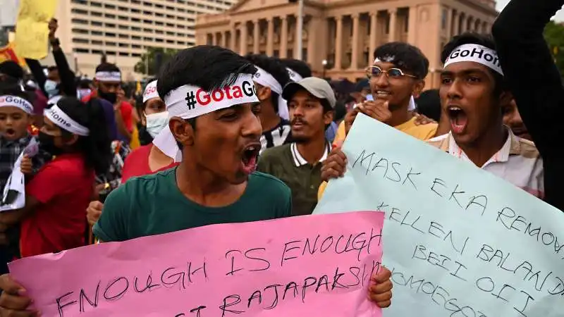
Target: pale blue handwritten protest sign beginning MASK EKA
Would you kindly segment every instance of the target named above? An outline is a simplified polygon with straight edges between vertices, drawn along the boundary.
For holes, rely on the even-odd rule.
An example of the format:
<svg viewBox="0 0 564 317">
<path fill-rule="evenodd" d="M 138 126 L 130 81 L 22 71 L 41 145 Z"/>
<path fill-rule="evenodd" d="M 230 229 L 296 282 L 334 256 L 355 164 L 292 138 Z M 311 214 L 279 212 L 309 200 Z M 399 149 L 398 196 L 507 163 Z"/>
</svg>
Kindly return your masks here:
<svg viewBox="0 0 564 317">
<path fill-rule="evenodd" d="M 343 151 L 345 177 L 314 213 L 386 212 L 385 317 L 562 316 L 561 211 L 364 115 Z"/>
</svg>

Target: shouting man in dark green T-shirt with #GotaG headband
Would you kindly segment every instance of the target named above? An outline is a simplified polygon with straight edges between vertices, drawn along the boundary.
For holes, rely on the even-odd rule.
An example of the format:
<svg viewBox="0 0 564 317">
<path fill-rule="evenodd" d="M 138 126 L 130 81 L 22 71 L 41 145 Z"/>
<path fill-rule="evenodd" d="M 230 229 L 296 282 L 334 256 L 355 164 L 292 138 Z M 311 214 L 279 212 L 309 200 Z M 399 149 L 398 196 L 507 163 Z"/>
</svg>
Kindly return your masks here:
<svg viewBox="0 0 564 317">
<path fill-rule="evenodd" d="M 255 71 L 218 46 L 185 49 L 164 66 L 157 88 L 170 122 L 154 144 L 180 166 L 132 178 L 111 192 L 94 235 L 123 241 L 290 216 L 290 189 L 255 172 L 262 132 Z"/>
</svg>

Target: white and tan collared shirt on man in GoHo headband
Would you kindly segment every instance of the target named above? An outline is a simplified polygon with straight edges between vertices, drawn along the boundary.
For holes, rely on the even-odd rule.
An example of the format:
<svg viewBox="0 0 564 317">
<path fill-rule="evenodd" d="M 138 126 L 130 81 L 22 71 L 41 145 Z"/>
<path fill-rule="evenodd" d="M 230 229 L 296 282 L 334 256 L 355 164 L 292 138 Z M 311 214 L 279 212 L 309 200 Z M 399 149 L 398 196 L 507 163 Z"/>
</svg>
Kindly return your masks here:
<svg viewBox="0 0 564 317">
<path fill-rule="evenodd" d="M 521 139 L 507 129 L 509 137 L 503 147 L 489 159 L 483 170 L 494 173 L 500 178 L 524 189 L 540 199 L 544 198 L 544 168 L 542 159 L 533 142 Z M 468 156 L 458 147 L 450 132 L 427 141 L 448 154 L 463 161 L 470 161 Z"/>
</svg>

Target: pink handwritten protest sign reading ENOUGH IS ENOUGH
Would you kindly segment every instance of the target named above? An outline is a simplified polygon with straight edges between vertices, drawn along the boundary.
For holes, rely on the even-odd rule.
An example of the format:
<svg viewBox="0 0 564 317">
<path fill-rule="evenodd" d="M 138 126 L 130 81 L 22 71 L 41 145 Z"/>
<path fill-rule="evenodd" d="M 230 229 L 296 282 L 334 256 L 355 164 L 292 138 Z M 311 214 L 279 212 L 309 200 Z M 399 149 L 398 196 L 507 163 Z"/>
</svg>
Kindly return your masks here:
<svg viewBox="0 0 564 317">
<path fill-rule="evenodd" d="M 55 316 L 381 316 L 375 211 L 209 225 L 9 264 Z"/>
</svg>

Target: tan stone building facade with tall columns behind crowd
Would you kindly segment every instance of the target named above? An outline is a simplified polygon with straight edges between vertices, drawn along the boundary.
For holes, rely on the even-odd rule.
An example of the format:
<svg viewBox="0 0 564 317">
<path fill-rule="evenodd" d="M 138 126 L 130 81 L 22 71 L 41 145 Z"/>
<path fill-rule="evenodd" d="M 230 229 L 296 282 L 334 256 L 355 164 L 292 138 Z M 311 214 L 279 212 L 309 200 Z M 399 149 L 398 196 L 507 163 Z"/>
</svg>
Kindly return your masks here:
<svg viewBox="0 0 564 317">
<path fill-rule="evenodd" d="M 462 32 L 489 32 L 497 14 L 494 0 L 305 0 L 302 59 L 318 76 L 355 81 L 377 46 L 408 42 L 429 58 L 427 88 L 438 87 L 442 46 Z M 240 0 L 225 13 L 199 15 L 196 44 L 300 58 L 297 15 L 288 0 Z"/>
</svg>

